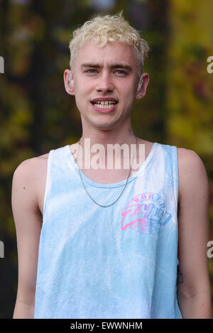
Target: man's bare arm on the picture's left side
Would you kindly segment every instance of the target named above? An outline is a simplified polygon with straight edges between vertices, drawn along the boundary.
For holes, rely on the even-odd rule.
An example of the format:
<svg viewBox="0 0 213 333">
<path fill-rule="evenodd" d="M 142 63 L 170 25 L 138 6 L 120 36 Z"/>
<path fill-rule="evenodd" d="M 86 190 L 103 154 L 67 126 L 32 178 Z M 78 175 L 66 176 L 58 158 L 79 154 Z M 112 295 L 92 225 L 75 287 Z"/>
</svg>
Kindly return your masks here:
<svg viewBox="0 0 213 333">
<path fill-rule="evenodd" d="M 13 318 L 33 319 L 38 246 L 43 217 L 36 193 L 38 159 L 24 160 L 13 173 L 11 204 L 18 248 L 18 292 Z"/>
</svg>

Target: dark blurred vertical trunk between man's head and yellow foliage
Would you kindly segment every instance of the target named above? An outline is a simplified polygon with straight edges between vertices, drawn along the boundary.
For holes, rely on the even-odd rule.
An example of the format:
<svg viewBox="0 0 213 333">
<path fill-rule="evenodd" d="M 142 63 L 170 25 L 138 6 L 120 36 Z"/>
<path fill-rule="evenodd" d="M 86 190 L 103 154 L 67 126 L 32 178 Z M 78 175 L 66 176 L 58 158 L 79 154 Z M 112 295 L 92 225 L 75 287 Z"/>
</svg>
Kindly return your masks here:
<svg viewBox="0 0 213 333">
<path fill-rule="evenodd" d="M 132 125 L 138 136 L 149 141 L 165 143 L 168 47 L 170 27 L 168 0 L 131 1 L 131 20 L 148 42 L 150 52 L 145 59 L 143 72 L 148 72 L 150 82 L 146 96 L 137 101 L 132 112 Z"/>
</svg>

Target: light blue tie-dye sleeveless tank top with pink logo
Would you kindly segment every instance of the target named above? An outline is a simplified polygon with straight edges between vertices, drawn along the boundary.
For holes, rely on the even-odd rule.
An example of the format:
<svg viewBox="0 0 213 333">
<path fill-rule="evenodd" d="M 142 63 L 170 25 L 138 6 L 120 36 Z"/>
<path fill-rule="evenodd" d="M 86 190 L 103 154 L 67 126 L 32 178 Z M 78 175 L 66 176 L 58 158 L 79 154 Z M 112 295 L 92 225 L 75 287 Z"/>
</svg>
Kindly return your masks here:
<svg viewBox="0 0 213 333">
<path fill-rule="evenodd" d="M 103 205 L 126 183 L 82 178 Z M 182 318 L 177 213 L 176 146 L 154 143 L 107 208 L 85 192 L 70 146 L 50 151 L 35 318 Z"/>
</svg>

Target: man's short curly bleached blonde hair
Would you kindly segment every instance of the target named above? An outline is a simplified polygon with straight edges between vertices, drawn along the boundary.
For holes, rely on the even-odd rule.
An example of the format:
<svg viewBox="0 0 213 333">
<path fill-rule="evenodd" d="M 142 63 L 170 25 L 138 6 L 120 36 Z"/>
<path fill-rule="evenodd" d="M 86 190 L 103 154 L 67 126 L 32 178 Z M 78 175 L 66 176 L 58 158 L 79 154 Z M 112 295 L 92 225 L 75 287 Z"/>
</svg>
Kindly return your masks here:
<svg viewBox="0 0 213 333">
<path fill-rule="evenodd" d="M 129 22 L 124 19 L 122 11 L 114 16 L 95 16 L 80 28 L 75 29 L 70 40 L 70 70 L 72 75 L 78 50 L 89 40 L 92 40 L 99 47 L 106 45 L 107 42 L 122 42 L 132 45 L 136 50 L 138 77 L 141 77 L 144 58 L 147 57 L 149 50 L 148 43 L 141 38 L 139 31 L 130 26 Z"/>
</svg>

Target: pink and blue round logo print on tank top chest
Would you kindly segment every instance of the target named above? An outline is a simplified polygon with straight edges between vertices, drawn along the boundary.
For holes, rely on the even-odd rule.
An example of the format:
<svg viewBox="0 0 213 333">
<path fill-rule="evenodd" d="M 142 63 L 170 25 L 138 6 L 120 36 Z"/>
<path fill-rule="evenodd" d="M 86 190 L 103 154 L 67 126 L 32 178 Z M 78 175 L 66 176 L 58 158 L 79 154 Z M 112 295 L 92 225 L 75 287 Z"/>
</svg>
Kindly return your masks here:
<svg viewBox="0 0 213 333">
<path fill-rule="evenodd" d="M 122 230 L 130 227 L 142 234 L 158 234 L 172 218 L 166 211 L 163 198 L 151 192 L 133 197 L 129 204 L 121 209 L 121 215 Z"/>
</svg>

